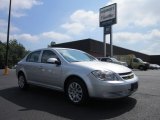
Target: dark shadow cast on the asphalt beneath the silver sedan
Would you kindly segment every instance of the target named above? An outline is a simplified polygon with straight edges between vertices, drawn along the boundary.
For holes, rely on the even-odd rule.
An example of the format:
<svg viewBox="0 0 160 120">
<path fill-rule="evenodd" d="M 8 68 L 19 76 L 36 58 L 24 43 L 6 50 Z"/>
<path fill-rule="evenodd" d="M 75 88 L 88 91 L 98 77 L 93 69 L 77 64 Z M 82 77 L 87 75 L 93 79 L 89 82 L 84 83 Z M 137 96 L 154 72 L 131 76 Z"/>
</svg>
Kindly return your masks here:
<svg viewBox="0 0 160 120">
<path fill-rule="evenodd" d="M 38 110 L 68 119 L 109 119 L 132 110 L 137 101 L 134 98 L 122 100 L 95 100 L 86 105 L 76 106 L 68 103 L 61 92 L 31 86 L 22 91 L 18 87 L 0 90 L 0 96 L 22 106 L 19 111 Z"/>
</svg>

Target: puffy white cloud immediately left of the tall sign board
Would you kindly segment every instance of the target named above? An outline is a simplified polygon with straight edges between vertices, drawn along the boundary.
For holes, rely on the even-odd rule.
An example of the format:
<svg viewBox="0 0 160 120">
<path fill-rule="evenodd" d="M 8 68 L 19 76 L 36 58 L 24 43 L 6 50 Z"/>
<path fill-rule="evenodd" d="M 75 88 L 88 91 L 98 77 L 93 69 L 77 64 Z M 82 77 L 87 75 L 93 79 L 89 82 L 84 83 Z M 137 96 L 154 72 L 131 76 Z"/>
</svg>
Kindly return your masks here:
<svg viewBox="0 0 160 120">
<path fill-rule="evenodd" d="M 69 22 L 61 25 L 69 34 L 81 34 L 93 31 L 98 27 L 98 13 L 86 10 L 77 10 L 71 16 Z"/>
</svg>

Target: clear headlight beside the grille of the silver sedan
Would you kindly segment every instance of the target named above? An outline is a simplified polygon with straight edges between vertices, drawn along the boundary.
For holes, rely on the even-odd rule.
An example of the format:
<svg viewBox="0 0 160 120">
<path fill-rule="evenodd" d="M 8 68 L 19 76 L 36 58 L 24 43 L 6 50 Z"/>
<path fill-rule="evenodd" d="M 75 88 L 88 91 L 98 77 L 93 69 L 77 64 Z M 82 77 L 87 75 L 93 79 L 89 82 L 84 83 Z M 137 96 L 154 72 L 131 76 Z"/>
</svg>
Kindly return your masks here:
<svg viewBox="0 0 160 120">
<path fill-rule="evenodd" d="M 116 73 L 112 72 L 112 71 L 100 71 L 100 70 L 96 70 L 93 71 L 92 74 L 100 79 L 100 80 L 104 80 L 104 81 L 116 81 L 116 80 L 122 80 Z"/>
</svg>

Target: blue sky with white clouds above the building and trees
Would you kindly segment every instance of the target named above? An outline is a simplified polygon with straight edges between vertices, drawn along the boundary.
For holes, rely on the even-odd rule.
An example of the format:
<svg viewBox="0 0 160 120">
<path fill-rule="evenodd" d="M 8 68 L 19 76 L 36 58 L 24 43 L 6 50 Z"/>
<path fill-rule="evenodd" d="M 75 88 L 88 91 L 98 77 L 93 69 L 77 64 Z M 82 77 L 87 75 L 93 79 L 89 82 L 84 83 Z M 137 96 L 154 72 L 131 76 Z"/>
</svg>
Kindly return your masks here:
<svg viewBox="0 0 160 120">
<path fill-rule="evenodd" d="M 12 0 L 10 39 L 27 50 L 95 39 L 103 42 L 99 9 L 117 3 L 113 45 L 160 55 L 159 0 Z M 0 40 L 7 40 L 9 0 L 0 0 Z M 109 43 L 109 35 L 106 42 Z"/>
</svg>

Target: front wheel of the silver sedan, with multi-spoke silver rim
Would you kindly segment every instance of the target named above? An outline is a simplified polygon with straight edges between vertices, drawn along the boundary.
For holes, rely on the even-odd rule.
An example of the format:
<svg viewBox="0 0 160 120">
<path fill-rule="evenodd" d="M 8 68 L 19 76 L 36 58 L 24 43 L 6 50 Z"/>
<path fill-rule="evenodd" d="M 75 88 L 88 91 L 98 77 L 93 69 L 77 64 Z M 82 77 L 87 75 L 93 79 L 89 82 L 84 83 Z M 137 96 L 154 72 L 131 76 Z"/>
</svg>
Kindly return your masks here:
<svg viewBox="0 0 160 120">
<path fill-rule="evenodd" d="M 84 104 L 88 100 L 88 90 L 85 83 L 79 78 L 72 78 L 66 84 L 65 94 L 69 102 Z"/>
</svg>

